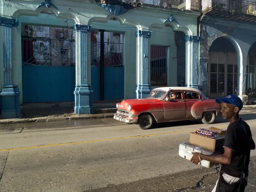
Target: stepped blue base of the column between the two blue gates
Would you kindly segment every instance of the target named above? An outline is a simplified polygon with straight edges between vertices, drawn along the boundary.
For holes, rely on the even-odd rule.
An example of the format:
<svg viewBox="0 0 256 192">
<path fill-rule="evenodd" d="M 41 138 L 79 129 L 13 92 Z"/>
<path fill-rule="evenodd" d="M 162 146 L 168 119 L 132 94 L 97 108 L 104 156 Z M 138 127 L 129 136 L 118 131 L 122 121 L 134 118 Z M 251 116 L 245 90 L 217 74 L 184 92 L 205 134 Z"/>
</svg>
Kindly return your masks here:
<svg viewBox="0 0 256 192">
<path fill-rule="evenodd" d="M 74 111 L 76 114 L 91 114 L 93 112 L 91 95 L 93 91 L 90 85 L 76 85 L 75 106 Z"/>
</svg>

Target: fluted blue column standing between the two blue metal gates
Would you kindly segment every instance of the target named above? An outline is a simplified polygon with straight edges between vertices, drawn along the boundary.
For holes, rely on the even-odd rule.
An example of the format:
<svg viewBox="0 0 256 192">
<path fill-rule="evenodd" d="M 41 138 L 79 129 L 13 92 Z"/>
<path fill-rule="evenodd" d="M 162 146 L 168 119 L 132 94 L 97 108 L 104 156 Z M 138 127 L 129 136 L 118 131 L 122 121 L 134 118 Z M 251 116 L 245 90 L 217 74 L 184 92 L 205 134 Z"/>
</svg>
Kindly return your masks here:
<svg viewBox="0 0 256 192">
<path fill-rule="evenodd" d="M 76 31 L 76 88 L 74 111 L 77 114 L 93 113 L 90 85 L 90 31 L 92 26 L 74 26 Z"/>
</svg>

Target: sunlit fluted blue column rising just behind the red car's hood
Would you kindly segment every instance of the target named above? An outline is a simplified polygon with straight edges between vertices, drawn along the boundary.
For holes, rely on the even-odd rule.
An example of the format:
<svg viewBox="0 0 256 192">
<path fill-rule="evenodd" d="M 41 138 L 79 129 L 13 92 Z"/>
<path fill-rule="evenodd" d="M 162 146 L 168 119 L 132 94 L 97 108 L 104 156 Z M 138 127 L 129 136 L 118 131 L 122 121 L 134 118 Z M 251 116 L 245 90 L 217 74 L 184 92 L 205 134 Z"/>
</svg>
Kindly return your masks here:
<svg viewBox="0 0 256 192">
<path fill-rule="evenodd" d="M 151 92 L 150 84 L 150 41 L 151 31 L 137 31 L 136 35 L 136 87 L 135 98 L 146 98 Z"/>
</svg>

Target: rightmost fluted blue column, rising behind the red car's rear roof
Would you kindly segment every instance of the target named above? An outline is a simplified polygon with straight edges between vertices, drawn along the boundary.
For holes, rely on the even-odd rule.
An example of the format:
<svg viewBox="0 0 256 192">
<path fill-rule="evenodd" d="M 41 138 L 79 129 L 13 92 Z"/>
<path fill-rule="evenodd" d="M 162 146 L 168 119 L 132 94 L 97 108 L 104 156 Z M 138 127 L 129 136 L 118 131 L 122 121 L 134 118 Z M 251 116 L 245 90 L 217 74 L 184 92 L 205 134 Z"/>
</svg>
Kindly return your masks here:
<svg viewBox="0 0 256 192">
<path fill-rule="evenodd" d="M 185 37 L 186 45 L 187 45 L 187 51 L 186 54 L 189 56 L 186 58 L 189 58 L 189 61 L 186 63 L 189 66 L 186 66 L 186 73 L 187 73 L 187 79 L 186 79 L 186 87 L 192 87 L 198 89 L 198 68 L 199 68 L 199 36 L 192 36 L 188 35 Z"/>
</svg>

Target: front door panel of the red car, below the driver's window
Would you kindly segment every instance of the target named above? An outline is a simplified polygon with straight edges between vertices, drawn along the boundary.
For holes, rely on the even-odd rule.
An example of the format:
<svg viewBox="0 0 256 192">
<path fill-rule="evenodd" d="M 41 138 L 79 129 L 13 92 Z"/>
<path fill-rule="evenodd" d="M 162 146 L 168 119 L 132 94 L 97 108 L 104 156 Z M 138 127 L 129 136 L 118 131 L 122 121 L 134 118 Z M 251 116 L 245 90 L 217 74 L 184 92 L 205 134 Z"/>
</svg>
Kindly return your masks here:
<svg viewBox="0 0 256 192">
<path fill-rule="evenodd" d="M 186 105 L 184 99 L 164 100 L 163 110 L 166 122 L 186 119 Z"/>
</svg>

